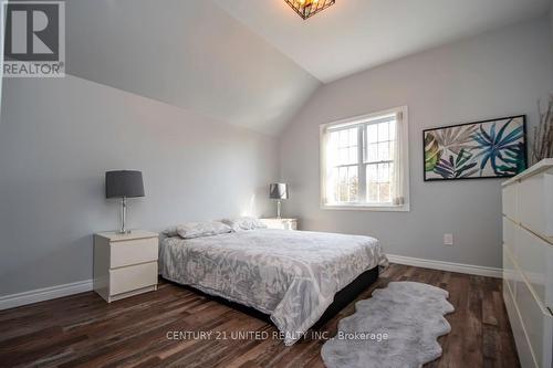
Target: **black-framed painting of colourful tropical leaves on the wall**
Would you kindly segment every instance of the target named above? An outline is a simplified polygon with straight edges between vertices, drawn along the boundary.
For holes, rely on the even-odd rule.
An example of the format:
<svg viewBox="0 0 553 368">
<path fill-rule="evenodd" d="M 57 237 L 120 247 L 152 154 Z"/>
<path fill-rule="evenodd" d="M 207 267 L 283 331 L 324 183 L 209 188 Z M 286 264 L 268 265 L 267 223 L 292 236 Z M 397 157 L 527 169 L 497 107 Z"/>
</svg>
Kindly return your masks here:
<svg viewBox="0 0 553 368">
<path fill-rule="evenodd" d="M 425 130 L 425 180 L 512 177 L 526 168 L 525 117 Z"/>
</svg>

